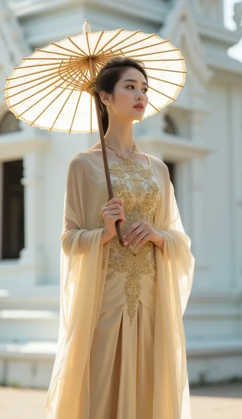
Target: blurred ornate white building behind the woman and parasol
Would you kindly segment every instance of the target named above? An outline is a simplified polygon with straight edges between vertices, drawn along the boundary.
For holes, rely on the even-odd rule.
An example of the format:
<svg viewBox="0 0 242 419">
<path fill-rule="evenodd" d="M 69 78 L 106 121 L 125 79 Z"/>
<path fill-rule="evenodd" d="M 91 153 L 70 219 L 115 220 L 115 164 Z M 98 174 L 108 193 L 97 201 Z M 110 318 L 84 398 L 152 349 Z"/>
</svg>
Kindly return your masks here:
<svg viewBox="0 0 242 419">
<path fill-rule="evenodd" d="M 190 385 L 242 380 L 241 18 L 234 0 L 0 0 L 1 88 L 22 57 L 82 33 L 85 19 L 92 32 L 155 32 L 187 58 L 177 101 L 135 124 L 134 139 L 167 164 L 196 257 L 184 315 Z M 46 388 L 58 338 L 66 170 L 99 135 L 30 127 L 1 95 L 0 385 Z"/>
</svg>

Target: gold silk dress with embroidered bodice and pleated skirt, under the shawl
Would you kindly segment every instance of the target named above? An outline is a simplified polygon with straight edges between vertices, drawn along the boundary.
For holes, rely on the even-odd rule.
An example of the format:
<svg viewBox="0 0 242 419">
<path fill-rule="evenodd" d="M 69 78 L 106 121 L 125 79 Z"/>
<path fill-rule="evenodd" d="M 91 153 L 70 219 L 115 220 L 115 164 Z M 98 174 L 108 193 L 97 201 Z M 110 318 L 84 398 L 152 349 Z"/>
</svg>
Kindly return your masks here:
<svg viewBox="0 0 242 419">
<path fill-rule="evenodd" d="M 123 199 L 124 232 L 139 220 L 154 226 L 160 199 L 149 165 L 109 162 L 114 196 Z M 100 228 L 104 220 L 99 214 Z M 121 246 L 115 236 L 90 353 L 89 419 L 152 419 L 154 392 L 155 245 Z"/>
</svg>

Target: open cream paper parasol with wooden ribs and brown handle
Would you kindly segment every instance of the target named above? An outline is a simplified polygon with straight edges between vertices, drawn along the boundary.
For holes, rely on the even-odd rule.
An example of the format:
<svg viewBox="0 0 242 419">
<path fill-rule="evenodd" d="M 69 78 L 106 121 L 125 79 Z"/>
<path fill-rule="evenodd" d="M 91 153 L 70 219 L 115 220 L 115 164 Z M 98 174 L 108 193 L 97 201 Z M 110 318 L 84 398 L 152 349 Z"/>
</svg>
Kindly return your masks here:
<svg viewBox="0 0 242 419">
<path fill-rule="evenodd" d="M 169 40 L 139 30 L 91 32 L 86 20 L 83 34 L 51 42 L 23 58 L 4 89 L 8 109 L 30 125 L 68 133 L 99 131 L 109 199 L 113 191 L 94 86 L 100 69 L 115 56 L 138 59 L 146 69 L 149 103 L 143 119 L 175 101 L 184 86 L 185 58 Z M 119 221 L 116 229 L 123 244 Z"/>
</svg>

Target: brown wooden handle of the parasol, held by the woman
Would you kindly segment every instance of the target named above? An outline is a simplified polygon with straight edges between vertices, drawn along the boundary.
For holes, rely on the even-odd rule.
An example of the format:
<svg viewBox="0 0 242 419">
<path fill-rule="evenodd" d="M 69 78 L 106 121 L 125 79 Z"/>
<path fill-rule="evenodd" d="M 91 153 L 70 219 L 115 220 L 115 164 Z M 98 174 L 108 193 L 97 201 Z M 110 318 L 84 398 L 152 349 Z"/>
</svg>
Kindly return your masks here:
<svg viewBox="0 0 242 419">
<path fill-rule="evenodd" d="M 89 58 L 89 63 L 90 63 L 90 75 L 92 78 L 93 76 L 95 76 L 95 67 L 93 63 L 93 58 Z M 100 139 L 101 139 L 101 145 L 102 145 L 102 151 L 103 151 L 104 169 L 105 169 L 105 176 L 106 176 L 107 187 L 108 187 L 108 198 L 110 200 L 114 198 L 114 195 L 113 195 L 112 183 L 111 183 L 109 167 L 108 167 L 107 150 L 106 150 L 106 146 L 104 142 L 104 132 L 103 132 L 101 111 L 99 107 L 98 94 L 94 94 L 94 102 L 95 102 L 95 108 L 96 108 L 96 117 L 98 118 L 99 133 L 100 133 Z M 120 228 L 120 220 L 117 220 L 115 222 L 115 227 L 117 231 L 118 241 L 121 245 L 124 245 L 124 240 L 123 240 L 121 228 Z"/>
</svg>

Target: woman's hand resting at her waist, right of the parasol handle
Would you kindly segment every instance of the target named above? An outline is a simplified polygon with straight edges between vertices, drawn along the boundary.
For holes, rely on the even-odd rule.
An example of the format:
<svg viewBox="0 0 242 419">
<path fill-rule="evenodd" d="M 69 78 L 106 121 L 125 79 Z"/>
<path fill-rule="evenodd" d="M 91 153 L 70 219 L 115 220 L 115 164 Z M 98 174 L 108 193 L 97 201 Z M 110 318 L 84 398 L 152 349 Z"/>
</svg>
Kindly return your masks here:
<svg viewBox="0 0 242 419">
<path fill-rule="evenodd" d="M 141 247 L 144 243 L 151 241 L 161 250 L 164 245 L 164 236 L 161 231 L 155 230 L 146 221 L 140 220 L 132 224 L 123 234 L 125 246 L 133 249 L 135 246 Z M 133 243 L 130 244 L 133 240 Z"/>
</svg>

